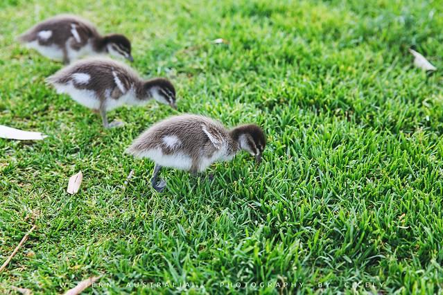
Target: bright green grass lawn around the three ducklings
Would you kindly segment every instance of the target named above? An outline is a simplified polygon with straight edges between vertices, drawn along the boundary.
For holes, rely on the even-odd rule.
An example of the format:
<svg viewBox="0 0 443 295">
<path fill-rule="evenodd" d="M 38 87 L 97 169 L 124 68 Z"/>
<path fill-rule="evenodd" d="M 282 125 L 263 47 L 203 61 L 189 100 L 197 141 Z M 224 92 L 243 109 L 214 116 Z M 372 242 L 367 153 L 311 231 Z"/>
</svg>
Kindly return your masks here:
<svg viewBox="0 0 443 295">
<path fill-rule="evenodd" d="M 408 48 L 442 69 L 443 1 L 125 2 L 0 4 L 0 124 L 49 135 L 0 139 L 0 264 L 37 224 L 0 293 L 94 275 L 87 292 L 442 292 L 443 80 Z M 109 117 L 127 124 L 105 130 L 46 87 L 62 65 L 14 37 L 60 12 L 128 35 L 132 66 L 173 80 L 178 111 L 123 107 Z M 184 112 L 263 126 L 261 166 L 239 154 L 212 183 L 167 170 L 155 193 L 153 163 L 123 151 Z"/>
</svg>

